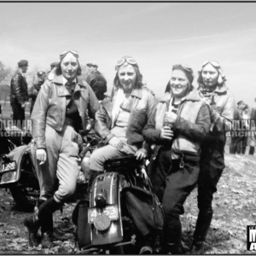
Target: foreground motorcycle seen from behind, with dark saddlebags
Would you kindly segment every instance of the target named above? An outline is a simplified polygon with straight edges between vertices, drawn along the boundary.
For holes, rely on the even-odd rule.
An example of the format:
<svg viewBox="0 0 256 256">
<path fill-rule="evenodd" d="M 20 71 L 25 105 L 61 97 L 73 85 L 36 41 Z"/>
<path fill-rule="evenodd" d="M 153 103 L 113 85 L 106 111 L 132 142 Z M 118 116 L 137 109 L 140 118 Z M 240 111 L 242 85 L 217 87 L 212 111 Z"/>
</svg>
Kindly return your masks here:
<svg viewBox="0 0 256 256">
<path fill-rule="evenodd" d="M 135 201 L 129 208 L 127 191 L 131 192 L 129 189 L 134 188 L 145 197 L 145 201 Z M 142 216 L 143 212 L 136 212 L 135 216 L 131 214 L 133 208 L 141 203 L 139 207 L 145 207 L 143 211 L 148 210 L 148 214 L 153 212 L 148 215 L 151 221 L 154 222 L 155 216 L 165 217 L 151 188 L 144 162 L 138 162 L 134 155 L 106 161 L 105 172 L 92 184 L 90 207 L 85 201 L 80 201 L 73 211 L 73 223 L 77 225 L 76 239 L 82 253 L 160 253 L 160 236 L 149 234 L 145 238 L 138 230 L 138 225 L 144 220 L 138 217 L 136 225 L 137 213 Z M 148 201 L 154 207 L 148 207 L 145 204 Z M 154 214 L 154 211 L 160 211 L 157 212 L 160 215 Z"/>
</svg>

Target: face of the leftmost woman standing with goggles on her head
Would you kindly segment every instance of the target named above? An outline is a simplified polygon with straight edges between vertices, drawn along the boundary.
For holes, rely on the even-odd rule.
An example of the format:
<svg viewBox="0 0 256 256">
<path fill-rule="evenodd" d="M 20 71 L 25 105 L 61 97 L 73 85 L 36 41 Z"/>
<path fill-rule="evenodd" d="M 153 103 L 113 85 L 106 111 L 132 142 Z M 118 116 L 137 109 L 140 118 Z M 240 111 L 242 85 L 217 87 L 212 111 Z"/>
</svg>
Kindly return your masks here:
<svg viewBox="0 0 256 256">
<path fill-rule="evenodd" d="M 68 53 L 61 61 L 61 72 L 65 79 L 73 81 L 79 69 L 78 59 L 71 53 Z"/>
</svg>

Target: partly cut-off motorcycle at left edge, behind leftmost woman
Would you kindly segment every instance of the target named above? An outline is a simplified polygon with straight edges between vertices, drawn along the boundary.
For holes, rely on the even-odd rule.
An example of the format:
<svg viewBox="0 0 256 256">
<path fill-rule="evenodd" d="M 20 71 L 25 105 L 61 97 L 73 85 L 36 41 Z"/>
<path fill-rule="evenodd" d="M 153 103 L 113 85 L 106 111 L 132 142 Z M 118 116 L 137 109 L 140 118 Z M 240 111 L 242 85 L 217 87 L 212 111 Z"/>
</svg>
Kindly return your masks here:
<svg viewBox="0 0 256 256">
<path fill-rule="evenodd" d="M 0 137 L 0 188 L 9 189 L 16 204 L 23 209 L 29 209 L 28 202 L 31 199 L 25 195 L 34 188 L 30 183 L 36 183 L 31 172 L 32 160 L 27 146 L 32 135 L 29 131 L 21 131 L 15 126 L 5 127 L 2 120 L 0 123 L 3 135 Z"/>
</svg>

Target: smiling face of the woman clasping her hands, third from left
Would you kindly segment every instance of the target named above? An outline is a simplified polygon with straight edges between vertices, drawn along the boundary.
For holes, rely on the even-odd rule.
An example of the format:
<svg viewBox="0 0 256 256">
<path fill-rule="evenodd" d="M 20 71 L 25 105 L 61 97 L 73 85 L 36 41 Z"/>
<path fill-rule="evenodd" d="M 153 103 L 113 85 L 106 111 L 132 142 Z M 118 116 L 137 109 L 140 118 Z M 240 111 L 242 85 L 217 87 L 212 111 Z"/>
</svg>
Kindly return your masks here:
<svg viewBox="0 0 256 256">
<path fill-rule="evenodd" d="M 189 90 L 189 79 L 182 70 L 175 69 L 172 71 L 170 84 L 174 97 L 182 98 L 183 96 L 186 96 Z"/>
</svg>

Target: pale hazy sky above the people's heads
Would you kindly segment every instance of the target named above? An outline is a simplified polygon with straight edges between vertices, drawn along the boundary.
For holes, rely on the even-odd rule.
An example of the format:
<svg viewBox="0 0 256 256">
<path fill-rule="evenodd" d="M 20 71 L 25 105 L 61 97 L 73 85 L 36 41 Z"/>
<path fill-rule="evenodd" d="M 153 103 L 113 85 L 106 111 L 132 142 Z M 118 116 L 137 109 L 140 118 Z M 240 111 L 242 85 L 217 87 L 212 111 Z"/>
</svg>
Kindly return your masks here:
<svg viewBox="0 0 256 256">
<path fill-rule="evenodd" d="M 116 61 L 131 55 L 156 96 L 173 65 L 192 67 L 197 87 L 201 64 L 218 61 L 236 102 L 253 106 L 255 14 L 256 3 L 0 3 L 0 61 L 49 70 L 76 49 L 81 64 L 98 64 L 110 90 Z"/>
</svg>

